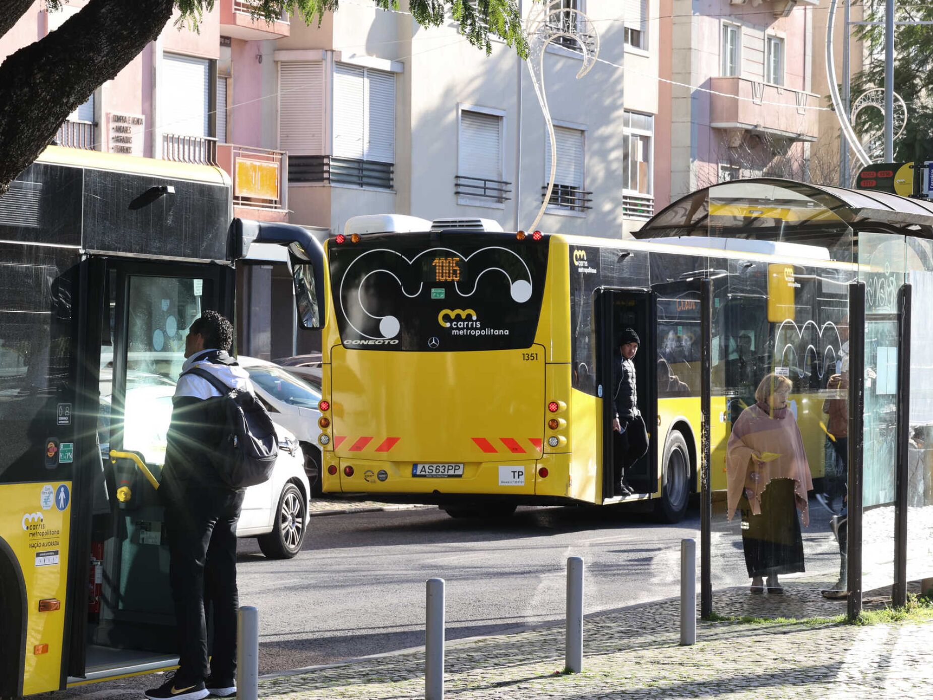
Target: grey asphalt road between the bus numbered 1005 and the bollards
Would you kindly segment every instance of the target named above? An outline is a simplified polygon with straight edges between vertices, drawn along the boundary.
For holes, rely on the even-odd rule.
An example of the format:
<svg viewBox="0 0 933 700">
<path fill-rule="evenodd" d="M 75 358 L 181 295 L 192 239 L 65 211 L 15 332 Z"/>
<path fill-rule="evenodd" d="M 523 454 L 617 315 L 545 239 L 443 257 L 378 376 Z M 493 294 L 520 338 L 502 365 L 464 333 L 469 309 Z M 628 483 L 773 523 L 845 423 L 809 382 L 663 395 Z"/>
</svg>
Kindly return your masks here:
<svg viewBox="0 0 933 700">
<path fill-rule="evenodd" d="M 838 570 L 828 513 L 812 501 L 808 572 Z M 719 504 L 717 504 L 718 506 Z M 741 531 L 717 507 L 713 585 L 747 584 Z M 447 581 L 447 638 L 501 634 L 564 616 L 566 557 L 586 567 L 585 611 L 679 595 L 680 540 L 699 541 L 699 510 L 659 525 L 625 507 L 522 508 L 504 520 L 454 520 L 435 509 L 311 519 L 304 550 L 270 561 L 239 546 L 241 605 L 256 606 L 260 673 L 424 644 L 425 580 Z M 160 677 L 55 697 L 139 697 Z"/>
</svg>

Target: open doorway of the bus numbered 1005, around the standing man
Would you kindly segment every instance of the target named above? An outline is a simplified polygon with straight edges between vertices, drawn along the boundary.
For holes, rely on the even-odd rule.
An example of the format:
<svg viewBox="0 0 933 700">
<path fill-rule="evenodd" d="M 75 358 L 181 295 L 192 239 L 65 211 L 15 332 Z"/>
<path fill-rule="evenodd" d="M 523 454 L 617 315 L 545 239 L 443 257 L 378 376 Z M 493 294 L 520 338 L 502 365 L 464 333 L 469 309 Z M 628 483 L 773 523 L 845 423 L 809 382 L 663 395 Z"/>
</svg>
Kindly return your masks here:
<svg viewBox="0 0 933 700">
<path fill-rule="evenodd" d="M 657 421 L 654 417 L 658 413 L 658 392 L 656 371 L 649 361 L 656 354 L 655 294 L 650 289 L 603 287 L 597 292 L 595 304 L 596 317 L 599 319 L 596 327 L 597 395 L 603 399 L 603 502 L 622 500 L 621 497 L 613 495 L 621 455 L 617 454 L 618 438 L 612 429 L 612 420 L 615 417 L 612 399 L 616 391 L 613 367 L 620 352 L 616 341 L 622 329 L 626 328 L 634 329 L 641 339 L 634 357 L 634 365 L 638 410 L 644 417 L 648 430 L 648 452 L 626 469 L 625 480 L 635 492 L 634 496 L 626 499 L 648 499 L 656 488 L 653 465 L 658 461 L 655 436 Z"/>
</svg>

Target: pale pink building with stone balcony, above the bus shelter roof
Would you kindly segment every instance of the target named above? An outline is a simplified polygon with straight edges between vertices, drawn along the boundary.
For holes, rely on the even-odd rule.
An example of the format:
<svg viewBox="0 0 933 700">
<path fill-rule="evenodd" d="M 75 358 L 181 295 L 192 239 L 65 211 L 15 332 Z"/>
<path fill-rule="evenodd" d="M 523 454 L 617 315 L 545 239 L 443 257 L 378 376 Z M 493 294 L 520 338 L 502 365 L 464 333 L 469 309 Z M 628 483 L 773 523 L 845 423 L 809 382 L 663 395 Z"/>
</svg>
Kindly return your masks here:
<svg viewBox="0 0 933 700">
<path fill-rule="evenodd" d="M 656 181 L 662 205 L 740 177 L 805 179 L 825 105 L 814 91 L 819 0 L 661 0 Z M 824 21 L 825 26 L 825 21 Z"/>
</svg>

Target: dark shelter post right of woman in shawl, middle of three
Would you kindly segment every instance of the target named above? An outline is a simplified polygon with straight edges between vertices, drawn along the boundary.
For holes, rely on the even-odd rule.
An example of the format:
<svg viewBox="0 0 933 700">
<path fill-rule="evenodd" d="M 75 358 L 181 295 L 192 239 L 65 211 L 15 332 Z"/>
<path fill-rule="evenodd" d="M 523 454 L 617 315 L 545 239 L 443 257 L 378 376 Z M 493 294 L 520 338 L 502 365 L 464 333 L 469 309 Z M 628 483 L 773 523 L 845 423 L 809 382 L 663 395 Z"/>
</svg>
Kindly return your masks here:
<svg viewBox="0 0 933 700">
<path fill-rule="evenodd" d="M 865 410 L 865 283 L 849 285 L 848 617 L 862 611 L 862 442 Z"/>
</svg>

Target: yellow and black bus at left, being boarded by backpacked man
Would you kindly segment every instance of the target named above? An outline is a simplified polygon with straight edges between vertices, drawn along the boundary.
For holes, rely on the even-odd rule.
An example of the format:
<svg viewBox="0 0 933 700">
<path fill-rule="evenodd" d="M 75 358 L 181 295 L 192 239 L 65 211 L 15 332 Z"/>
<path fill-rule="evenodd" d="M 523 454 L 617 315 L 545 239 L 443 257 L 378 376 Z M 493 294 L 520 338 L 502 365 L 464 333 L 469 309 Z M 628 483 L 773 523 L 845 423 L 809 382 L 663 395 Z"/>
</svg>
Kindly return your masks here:
<svg viewBox="0 0 933 700">
<path fill-rule="evenodd" d="M 230 213 L 219 168 L 61 147 L 0 198 L 0 697 L 177 663 L 148 479 L 185 330 L 234 317 Z"/>
</svg>

